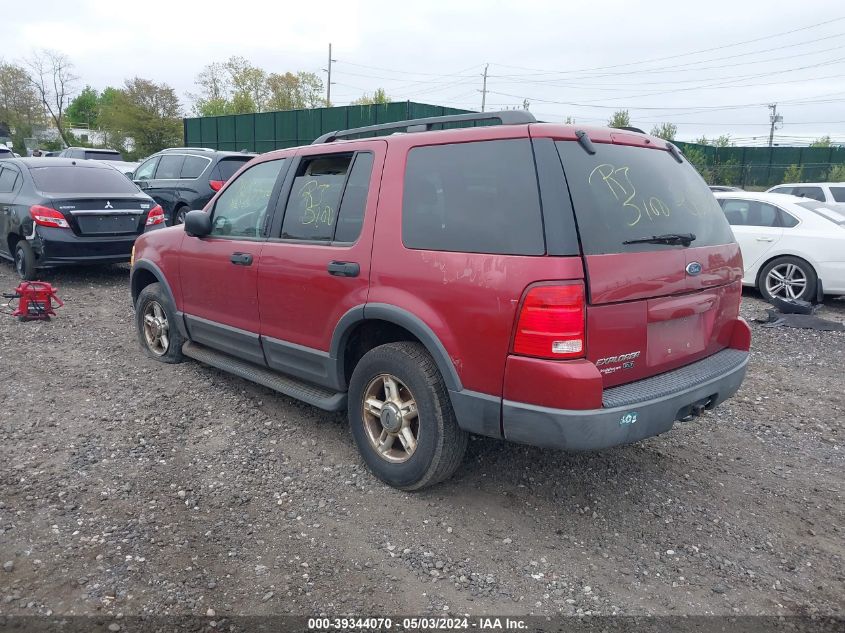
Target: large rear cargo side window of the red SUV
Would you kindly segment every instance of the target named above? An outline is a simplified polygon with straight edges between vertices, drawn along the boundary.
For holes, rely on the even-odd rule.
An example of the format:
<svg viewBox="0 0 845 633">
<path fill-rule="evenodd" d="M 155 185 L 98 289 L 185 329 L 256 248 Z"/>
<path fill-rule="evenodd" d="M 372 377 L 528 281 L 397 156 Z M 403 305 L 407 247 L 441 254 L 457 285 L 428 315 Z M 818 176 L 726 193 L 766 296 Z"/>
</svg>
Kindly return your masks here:
<svg viewBox="0 0 845 633">
<path fill-rule="evenodd" d="M 540 196 L 528 139 L 416 147 L 402 201 L 408 248 L 542 255 Z"/>
</svg>

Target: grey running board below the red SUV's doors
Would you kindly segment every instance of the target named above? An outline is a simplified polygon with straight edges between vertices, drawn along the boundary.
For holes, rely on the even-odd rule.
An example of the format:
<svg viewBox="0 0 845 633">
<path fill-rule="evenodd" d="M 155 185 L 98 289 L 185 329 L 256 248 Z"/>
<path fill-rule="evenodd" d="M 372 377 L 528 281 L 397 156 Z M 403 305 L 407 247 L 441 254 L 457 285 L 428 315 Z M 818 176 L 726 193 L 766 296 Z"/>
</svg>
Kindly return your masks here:
<svg viewBox="0 0 845 633">
<path fill-rule="evenodd" d="M 206 365 L 234 374 L 259 385 L 263 385 L 291 398 L 302 400 L 326 411 L 340 411 L 346 408 L 346 394 L 340 391 L 318 387 L 290 376 L 276 373 L 266 367 L 259 367 L 246 361 L 218 352 L 204 345 L 188 341 L 182 345 L 182 353 Z"/>
</svg>

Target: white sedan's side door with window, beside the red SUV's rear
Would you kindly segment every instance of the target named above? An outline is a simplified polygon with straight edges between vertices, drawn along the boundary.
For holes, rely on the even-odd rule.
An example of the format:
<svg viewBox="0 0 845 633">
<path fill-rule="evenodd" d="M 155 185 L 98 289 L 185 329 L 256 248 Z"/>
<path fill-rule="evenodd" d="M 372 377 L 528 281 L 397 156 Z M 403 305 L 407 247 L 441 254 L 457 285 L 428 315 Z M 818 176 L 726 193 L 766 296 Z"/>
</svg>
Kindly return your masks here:
<svg viewBox="0 0 845 633">
<path fill-rule="evenodd" d="M 747 273 L 783 237 L 778 209 L 744 198 L 721 198 L 719 204 L 742 250 L 743 272 Z"/>
</svg>

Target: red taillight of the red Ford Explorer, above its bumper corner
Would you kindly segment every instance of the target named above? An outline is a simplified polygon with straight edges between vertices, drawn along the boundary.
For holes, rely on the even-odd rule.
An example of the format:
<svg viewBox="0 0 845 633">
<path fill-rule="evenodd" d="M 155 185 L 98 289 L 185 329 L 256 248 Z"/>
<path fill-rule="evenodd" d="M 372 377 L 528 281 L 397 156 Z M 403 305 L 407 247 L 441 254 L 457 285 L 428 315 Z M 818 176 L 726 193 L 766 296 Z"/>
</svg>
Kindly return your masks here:
<svg viewBox="0 0 845 633">
<path fill-rule="evenodd" d="M 522 302 L 513 352 L 536 358 L 580 358 L 584 329 L 584 284 L 534 286 Z"/>
</svg>

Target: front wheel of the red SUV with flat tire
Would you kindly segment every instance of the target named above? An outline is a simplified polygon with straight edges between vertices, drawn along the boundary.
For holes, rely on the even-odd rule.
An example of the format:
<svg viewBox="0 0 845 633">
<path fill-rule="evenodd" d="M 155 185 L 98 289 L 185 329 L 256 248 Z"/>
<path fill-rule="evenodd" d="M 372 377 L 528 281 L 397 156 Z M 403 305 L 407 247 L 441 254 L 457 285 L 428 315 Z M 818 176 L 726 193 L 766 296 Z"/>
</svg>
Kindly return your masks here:
<svg viewBox="0 0 845 633">
<path fill-rule="evenodd" d="M 184 337 L 176 325 L 176 310 L 161 284 L 146 286 L 135 304 L 138 340 L 147 356 L 162 363 L 182 361 Z"/>
</svg>

